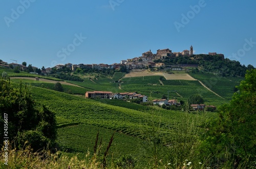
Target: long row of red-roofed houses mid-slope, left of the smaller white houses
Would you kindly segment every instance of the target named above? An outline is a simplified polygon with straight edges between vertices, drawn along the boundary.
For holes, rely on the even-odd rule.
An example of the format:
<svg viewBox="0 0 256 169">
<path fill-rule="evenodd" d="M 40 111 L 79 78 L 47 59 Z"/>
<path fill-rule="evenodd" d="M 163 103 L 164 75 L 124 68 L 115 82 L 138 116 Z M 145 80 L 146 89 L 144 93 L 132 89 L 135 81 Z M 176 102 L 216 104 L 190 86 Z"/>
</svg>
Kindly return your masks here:
<svg viewBox="0 0 256 169">
<path fill-rule="evenodd" d="M 99 98 L 99 99 L 140 99 L 141 102 L 147 102 L 147 96 L 138 94 L 136 92 L 122 92 L 122 93 L 112 93 L 111 91 L 87 91 L 86 98 Z"/>
</svg>

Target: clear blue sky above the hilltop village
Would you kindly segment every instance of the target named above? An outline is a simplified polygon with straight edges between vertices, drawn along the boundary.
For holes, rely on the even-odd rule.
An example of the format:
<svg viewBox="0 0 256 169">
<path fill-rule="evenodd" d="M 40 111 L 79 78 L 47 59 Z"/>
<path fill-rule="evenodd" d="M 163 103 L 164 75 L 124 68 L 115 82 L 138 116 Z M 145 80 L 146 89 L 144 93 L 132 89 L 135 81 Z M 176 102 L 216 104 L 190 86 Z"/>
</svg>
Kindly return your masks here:
<svg viewBox="0 0 256 169">
<path fill-rule="evenodd" d="M 255 9 L 255 0 L 3 0 L 0 59 L 112 64 L 193 45 L 256 67 Z"/>
</svg>

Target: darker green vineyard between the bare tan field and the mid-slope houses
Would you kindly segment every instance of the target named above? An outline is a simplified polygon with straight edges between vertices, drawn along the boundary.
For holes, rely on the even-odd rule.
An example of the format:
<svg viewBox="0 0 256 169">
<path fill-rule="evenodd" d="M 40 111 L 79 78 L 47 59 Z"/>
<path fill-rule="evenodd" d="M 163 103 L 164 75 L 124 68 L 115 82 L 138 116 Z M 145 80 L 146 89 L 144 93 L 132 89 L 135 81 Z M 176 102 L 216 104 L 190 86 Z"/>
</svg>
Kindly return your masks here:
<svg viewBox="0 0 256 169">
<path fill-rule="evenodd" d="M 159 82 L 160 78 L 161 76 L 123 78 L 121 87 L 126 91 L 136 91 L 145 94 L 152 99 L 161 99 L 163 95 L 167 96 L 169 91 L 169 99 L 186 101 L 190 95 L 199 93 L 207 104 L 218 106 L 227 102 L 207 90 L 198 81 L 165 80 L 161 78 L 164 84 L 161 85 Z"/>
</svg>

